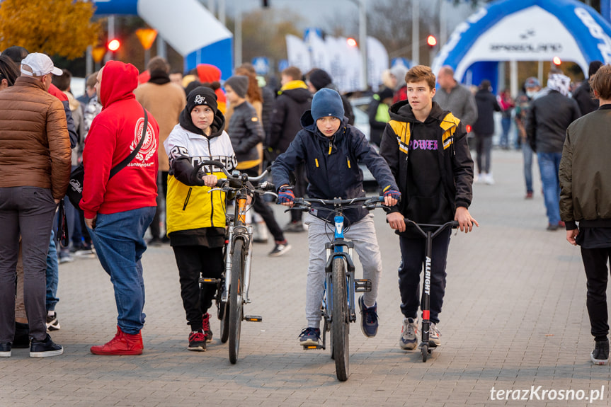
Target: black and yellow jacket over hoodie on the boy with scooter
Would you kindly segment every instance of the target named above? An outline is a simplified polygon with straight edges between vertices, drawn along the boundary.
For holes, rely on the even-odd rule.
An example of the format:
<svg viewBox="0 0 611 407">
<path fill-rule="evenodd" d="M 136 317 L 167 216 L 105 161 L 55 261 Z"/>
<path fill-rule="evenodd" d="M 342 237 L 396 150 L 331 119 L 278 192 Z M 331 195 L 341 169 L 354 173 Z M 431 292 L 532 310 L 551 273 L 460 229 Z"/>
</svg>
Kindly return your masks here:
<svg viewBox="0 0 611 407">
<path fill-rule="evenodd" d="M 472 200 L 473 160 L 464 125 L 436 102 L 424 122 L 408 101 L 395 103 L 389 113 L 379 154 L 401 191 L 392 212 L 418 223 L 454 219 L 456 207 L 468 208 Z"/>
</svg>

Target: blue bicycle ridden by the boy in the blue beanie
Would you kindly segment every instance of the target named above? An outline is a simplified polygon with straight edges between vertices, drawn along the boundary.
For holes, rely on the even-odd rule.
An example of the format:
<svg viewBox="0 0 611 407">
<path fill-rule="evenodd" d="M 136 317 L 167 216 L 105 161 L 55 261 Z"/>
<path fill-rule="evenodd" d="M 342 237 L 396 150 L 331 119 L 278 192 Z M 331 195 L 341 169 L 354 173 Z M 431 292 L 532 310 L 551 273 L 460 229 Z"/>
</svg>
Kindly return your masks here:
<svg viewBox="0 0 611 407">
<path fill-rule="evenodd" d="M 356 321 L 355 292 L 370 292 L 371 280 L 355 279 L 353 248 L 354 243 L 344 239 L 344 216 L 342 210 L 355 207 L 364 207 L 373 210 L 382 207 L 384 197 L 358 197 L 343 200 L 335 198 L 332 200 L 321 200 L 314 198 L 296 198 L 295 205 L 290 210 L 310 210 L 312 203 L 322 205 L 333 205 L 333 210 L 326 207 L 316 207 L 320 212 L 329 211 L 329 217 L 333 214 L 333 224 L 329 225 L 329 231 L 333 227 L 333 239 L 325 243 L 326 265 L 325 265 L 325 290 L 321 306 L 324 318 L 322 330 L 322 345 L 304 345 L 304 349 L 326 349 L 326 333 L 331 332 L 331 359 L 335 360 L 336 376 L 344 382 L 348 379 L 350 352 L 348 346 L 348 333 L 350 333 L 350 322 Z M 360 205 L 359 205 L 360 204 Z"/>
</svg>

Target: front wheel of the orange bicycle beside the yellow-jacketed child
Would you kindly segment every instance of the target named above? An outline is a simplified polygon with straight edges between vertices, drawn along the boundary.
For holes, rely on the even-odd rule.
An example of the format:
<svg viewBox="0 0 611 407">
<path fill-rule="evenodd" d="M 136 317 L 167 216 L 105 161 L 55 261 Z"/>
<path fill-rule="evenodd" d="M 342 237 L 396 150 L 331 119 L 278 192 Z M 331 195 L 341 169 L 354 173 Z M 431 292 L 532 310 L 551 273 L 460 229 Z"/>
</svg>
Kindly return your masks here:
<svg viewBox="0 0 611 407">
<path fill-rule="evenodd" d="M 240 350 L 240 331 L 244 309 L 242 294 L 244 290 L 244 241 L 237 239 L 232 255 L 232 285 L 229 286 L 229 362 L 238 361 Z"/>
</svg>

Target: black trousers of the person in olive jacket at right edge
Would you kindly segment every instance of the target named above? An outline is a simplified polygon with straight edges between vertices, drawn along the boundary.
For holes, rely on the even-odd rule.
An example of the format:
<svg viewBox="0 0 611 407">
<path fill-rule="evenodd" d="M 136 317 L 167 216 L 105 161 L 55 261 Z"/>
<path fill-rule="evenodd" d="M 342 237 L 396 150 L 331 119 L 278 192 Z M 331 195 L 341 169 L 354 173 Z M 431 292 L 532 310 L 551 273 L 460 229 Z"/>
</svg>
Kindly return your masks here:
<svg viewBox="0 0 611 407">
<path fill-rule="evenodd" d="M 581 248 L 581 259 L 586 268 L 588 296 L 586 306 L 590 316 L 590 329 L 595 340 L 605 340 L 609 334 L 607 316 L 607 263 L 611 248 Z"/>
</svg>

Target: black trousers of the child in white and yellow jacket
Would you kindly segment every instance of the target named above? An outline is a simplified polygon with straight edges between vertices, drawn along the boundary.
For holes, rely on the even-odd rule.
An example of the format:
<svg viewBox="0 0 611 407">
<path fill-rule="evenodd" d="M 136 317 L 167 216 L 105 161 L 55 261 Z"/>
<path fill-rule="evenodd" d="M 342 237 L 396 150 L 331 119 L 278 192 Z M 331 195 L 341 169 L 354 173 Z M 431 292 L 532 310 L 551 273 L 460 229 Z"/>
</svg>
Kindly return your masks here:
<svg viewBox="0 0 611 407">
<path fill-rule="evenodd" d="M 181 297 L 188 324 L 193 331 L 202 328 L 202 315 L 215 298 L 215 285 L 201 285 L 200 277 L 220 278 L 223 273 L 223 248 L 205 246 L 172 246 L 178 275 L 181 280 Z"/>
</svg>

